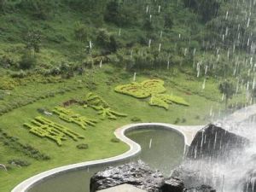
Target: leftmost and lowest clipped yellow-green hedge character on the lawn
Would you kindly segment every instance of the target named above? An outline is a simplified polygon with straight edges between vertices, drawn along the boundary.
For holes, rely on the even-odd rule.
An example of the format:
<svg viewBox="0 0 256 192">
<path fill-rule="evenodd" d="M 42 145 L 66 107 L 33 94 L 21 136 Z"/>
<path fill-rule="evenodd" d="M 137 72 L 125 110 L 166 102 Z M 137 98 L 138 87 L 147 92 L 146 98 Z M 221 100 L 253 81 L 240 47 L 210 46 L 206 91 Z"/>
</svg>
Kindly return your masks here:
<svg viewBox="0 0 256 192">
<path fill-rule="evenodd" d="M 59 146 L 62 145 L 63 140 L 67 140 L 67 137 L 71 137 L 74 141 L 84 139 L 84 136 L 76 133 L 63 125 L 56 124 L 55 122 L 38 116 L 32 120 L 32 124 L 24 124 L 26 128 L 38 137 L 47 137 L 57 143 Z"/>
</svg>

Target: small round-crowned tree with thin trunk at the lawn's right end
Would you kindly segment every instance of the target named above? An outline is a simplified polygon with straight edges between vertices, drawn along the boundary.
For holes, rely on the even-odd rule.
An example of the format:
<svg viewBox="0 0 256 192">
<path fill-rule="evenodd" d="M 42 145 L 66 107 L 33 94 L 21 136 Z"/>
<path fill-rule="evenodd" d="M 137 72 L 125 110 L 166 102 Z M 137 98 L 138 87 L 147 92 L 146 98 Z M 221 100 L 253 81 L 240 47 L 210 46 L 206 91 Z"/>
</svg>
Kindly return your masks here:
<svg viewBox="0 0 256 192">
<path fill-rule="evenodd" d="M 219 84 L 218 90 L 225 96 L 225 108 L 227 109 L 229 99 L 231 99 L 236 92 L 235 84 L 226 79 Z"/>
</svg>

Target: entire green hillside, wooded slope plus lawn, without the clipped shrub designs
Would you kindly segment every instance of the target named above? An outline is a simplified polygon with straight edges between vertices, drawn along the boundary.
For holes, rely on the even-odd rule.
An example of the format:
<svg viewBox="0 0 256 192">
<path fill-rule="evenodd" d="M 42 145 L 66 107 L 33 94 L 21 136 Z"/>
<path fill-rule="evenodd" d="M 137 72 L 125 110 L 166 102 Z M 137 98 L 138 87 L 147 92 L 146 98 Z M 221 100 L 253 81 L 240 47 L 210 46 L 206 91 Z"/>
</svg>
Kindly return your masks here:
<svg viewBox="0 0 256 192">
<path fill-rule="evenodd" d="M 125 152 L 124 143 L 111 141 L 119 126 L 203 125 L 226 113 L 225 96 L 230 110 L 250 104 L 256 96 L 254 10 L 234 1 L 0 0 L 0 163 L 8 168 L 0 171 L 0 191 L 50 168 Z M 164 80 L 165 94 L 189 107 L 172 103 L 166 110 L 114 91 L 133 82 L 134 73 L 136 82 Z M 219 91 L 221 82 L 231 82 L 231 96 Z M 84 131 L 42 114 L 89 92 L 128 116 L 101 119 L 93 108 L 67 107 L 99 121 Z M 84 140 L 69 138 L 60 147 L 33 135 L 23 124 L 39 115 Z M 81 143 L 89 148 L 78 149 Z"/>
</svg>

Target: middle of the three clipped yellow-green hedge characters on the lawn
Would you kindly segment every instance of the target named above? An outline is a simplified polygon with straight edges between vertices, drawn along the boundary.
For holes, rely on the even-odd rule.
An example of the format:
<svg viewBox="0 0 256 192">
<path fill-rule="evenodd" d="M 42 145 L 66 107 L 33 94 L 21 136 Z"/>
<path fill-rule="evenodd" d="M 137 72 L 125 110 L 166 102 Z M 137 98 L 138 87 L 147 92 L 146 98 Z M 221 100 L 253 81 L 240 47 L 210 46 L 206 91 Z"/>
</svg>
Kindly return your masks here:
<svg viewBox="0 0 256 192">
<path fill-rule="evenodd" d="M 81 126 L 84 130 L 88 125 L 95 126 L 97 123 L 96 119 L 89 119 L 67 108 L 55 107 L 53 113 L 57 114 L 62 120 Z"/>
</svg>

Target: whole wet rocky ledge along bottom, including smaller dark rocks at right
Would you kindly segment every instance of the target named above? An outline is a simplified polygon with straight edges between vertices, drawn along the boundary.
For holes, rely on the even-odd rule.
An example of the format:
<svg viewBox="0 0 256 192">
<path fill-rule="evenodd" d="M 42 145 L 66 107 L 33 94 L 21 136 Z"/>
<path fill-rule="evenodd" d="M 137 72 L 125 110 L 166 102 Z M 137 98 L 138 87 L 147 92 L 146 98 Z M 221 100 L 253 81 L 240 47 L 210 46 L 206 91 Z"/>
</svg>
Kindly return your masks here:
<svg viewBox="0 0 256 192">
<path fill-rule="evenodd" d="M 116 167 L 110 166 L 105 171 L 97 172 L 90 178 L 90 192 L 125 183 L 148 192 L 215 192 L 210 186 L 203 184 L 186 188 L 181 179 L 177 177 L 166 178 L 159 171 L 152 171 L 142 161 Z"/>
</svg>

